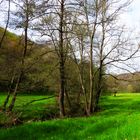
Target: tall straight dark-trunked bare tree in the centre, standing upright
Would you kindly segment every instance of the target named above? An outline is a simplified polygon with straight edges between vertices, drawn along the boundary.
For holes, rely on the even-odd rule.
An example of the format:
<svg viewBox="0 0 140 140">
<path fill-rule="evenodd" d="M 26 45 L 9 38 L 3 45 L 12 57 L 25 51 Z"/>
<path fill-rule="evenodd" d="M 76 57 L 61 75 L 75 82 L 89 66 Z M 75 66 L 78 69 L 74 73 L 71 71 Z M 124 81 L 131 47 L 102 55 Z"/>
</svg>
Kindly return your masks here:
<svg viewBox="0 0 140 140">
<path fill-rule="evenodd" d="M 46 7 L 43 7 L 45 11 L 42 16 L 40 23 L 40 31 L 42 36 L 46 38 L 53 44 L 59 61 L 59 108 L 60 116 L 65 116 L 65 105 L 64 105 L 64 95 L 66 91 L 66 75 L 65 75 L 65 61 L 68 54 L 68 45 L 66 34 L 69 33 L 67 25 L 71 25 L 68 18 L 68 10 L 70 3 L 67 0 L 61 1 L 51 1 Z M 67 96 L 67 95 L 66 95 Z"/>
</svg>

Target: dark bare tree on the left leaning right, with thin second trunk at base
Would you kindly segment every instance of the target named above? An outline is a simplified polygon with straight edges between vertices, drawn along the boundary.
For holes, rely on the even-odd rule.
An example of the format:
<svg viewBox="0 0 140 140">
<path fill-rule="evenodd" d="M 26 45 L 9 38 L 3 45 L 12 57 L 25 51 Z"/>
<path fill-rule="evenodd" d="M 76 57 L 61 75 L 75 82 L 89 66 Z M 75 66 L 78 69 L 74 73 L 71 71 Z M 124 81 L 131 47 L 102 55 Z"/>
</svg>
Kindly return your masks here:
<svg viewBox="0 0 140 140">
<path fill-rule="evenodd" d="M 6 110 L 6 106 L 8 104 L 9 101 L 9 97 L 11 95 L 11 86 L 13 85 L 13 81 L 15 82 L 15 87 L 13 89 L 13 98 L 12 101 L 9 105 L 8 110 L 12 111 L 15 101 L 16 101 L 16 96 L 18 93 L 18 89 L 19 89 L 19 85 L 22 81 L 22 78 L 24 76 L 24 70 L 25 70 L 25 59 L 26 59 L 26 55 L 27 55 L 27 49 L 28 49 L 28 29 L 29 29 L 29 22 L 32 21 L 32 17 L 33 15 L 33 8 L 34 8 L 34 4 L 35 1 L 33 0 L 25 0 L 23 1 L 17 1 L 17 0 L 13 0 L 12 3 L 14 3 L 18 8 L 19 11 L 14 11 L 14 13 L 16 13 L 14 16 L 18 17 L 18 21 L 16 21 L 16 19 L 14 19 L 14 26 L 19 27 L 19 28 L 23 28 L 24 30 L 24 35 L 21 36 L 21 39 L 19 41 L 19 46 L 22 46 L 22 50 L 21 50 L 21 56 L 19 59 L 19 70 L 18 73 L 14 72 L 13 76 L 11 78 L 11 83 L 10 83 L 10 87 L 9 87 L 9 92 L 8 95 L 6 97 L 6 100 L 4 102 L 4 110 Z M 14 18 L 15 18 L 14 17 Z M 23 41 L 24 40 L 24 41 Z M 23 43 L 24 42 L 24 43 Z M 15 78 L 16 75 L 16 78 Z"/>
</svg>

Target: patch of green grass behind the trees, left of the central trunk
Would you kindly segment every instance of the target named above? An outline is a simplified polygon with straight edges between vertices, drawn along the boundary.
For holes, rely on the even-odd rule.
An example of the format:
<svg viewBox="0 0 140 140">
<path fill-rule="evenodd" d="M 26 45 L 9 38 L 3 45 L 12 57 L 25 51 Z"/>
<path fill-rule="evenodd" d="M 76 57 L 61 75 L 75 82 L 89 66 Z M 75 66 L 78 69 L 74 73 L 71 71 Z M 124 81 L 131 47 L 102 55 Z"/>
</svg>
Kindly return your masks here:
<svg viewBox="0 0 140 140">
<path fill-rule="evenodd" d="M 5 95 L 0 95 L 0 105 L 3 104 L 5 100 Z M 36 101 L 29 105 L 27 103 L 32 100 L 38 100 L 42 98 L 48 98 L 49 96 L 39 96 L 39 95 L 18 95 L 15 102 L 14 112 L 20 114 L 20 118 L 24 121 L 28 120 L 40 120 L 45 119 L 52 113 L 51 109 L 55 109 L 55 98 L 50 98 L 46 100 Z M 11 98 L 10 98 L 11 100 Z M 48 112 L 47 112 L 48 111 Z"/>
</svg>

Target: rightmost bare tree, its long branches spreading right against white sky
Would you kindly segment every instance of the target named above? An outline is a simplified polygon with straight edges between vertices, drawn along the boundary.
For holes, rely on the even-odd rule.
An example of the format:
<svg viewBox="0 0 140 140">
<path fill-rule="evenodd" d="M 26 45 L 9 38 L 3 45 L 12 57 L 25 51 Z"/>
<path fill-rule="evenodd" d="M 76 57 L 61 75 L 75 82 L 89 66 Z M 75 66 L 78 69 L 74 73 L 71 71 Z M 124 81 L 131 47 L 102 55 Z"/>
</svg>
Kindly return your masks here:
<svg viewBox="0 0 140 140">
<path fill-rule="evenodd" d="M 128 60 L 132 59 L 139 50 L 139 47 L 133 43 L 134 38 L 128 32 L 128 29 L 121 24 L 117 24 L 117 18 L 120 11 L 127 8 L 129 4 L 130 1 L 126 1 L 108 14 L 110 3 L 106 0 L 101 2 L 101 24 L 99 24 L 101 30 L 99 33 L 100 37 L 97 39 L 98 44 L 95 48 L 98 58 L 98 79 L 94 99 L 94 111 L 97 109 L 103 88 L 103 77 L 105 75 L 103 71 L 108 67 L 108 65 L 115 66 L 116 64 L 119 65 L 119 63 L 127 65 Z M 128 36 L 126 33 L 128 33 Z"/>
</svg>

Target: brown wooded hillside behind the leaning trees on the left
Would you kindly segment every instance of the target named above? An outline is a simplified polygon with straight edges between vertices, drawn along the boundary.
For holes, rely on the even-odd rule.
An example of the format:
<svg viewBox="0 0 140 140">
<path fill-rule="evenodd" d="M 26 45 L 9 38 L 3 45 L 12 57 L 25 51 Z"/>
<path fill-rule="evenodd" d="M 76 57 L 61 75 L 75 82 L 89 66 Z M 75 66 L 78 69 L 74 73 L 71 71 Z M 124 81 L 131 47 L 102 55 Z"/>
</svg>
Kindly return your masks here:
<svg viewBox="0 0 140 140">
<path fill-rule="evenodd" d="M 2 37 L 3 32 L 4 29 L 0 28 L 0 37 Z M 46 90 L 46 88 L 48 90 L 48 86 L 52 87 L 50 83 L 54 81 L 54 78 L 49 82 L 48 75 L 50 75 L 51 69 L 54 69 L 57 59 L 56 54 L 48 46 L 49 45 L 46 44 L 35 43 L 28 38 L 26 58 L 24 60 L 24 68 L 27 69 L 27 71 L 23 78 L 24 80 L 22 80 L 20 84 L 20 91 L 37 92 L 37 90 Z M 17 36 L 7 31 L 2 43 L 2 48 L 0 48 L 0 91 L 7 92 L 13 75 L 15 75 L 15 73 L 16 76 L 18 75 L 23 48 L 24 36 Z M 56 61 L 52 62 L 52 60 Z M 16 76 L 14 77 L 14 82 L 16 82 Z"/>
</svg>

